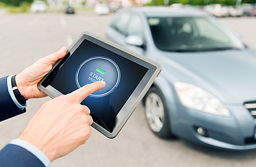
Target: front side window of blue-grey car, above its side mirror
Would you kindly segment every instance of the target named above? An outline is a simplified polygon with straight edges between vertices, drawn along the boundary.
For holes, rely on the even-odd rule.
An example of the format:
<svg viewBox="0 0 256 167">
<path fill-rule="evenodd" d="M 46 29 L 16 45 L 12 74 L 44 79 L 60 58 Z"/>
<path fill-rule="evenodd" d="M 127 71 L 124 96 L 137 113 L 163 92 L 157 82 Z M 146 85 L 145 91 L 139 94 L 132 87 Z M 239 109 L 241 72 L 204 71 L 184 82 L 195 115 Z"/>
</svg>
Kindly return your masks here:
<svg viewBox="0 0 256 167">
<path fill-rule="evenodd" d="M 143 27 L 138 15 L 133 14 L 126 30 L 126 36 L 139 35 L 143 38 Z"/>
</svg>

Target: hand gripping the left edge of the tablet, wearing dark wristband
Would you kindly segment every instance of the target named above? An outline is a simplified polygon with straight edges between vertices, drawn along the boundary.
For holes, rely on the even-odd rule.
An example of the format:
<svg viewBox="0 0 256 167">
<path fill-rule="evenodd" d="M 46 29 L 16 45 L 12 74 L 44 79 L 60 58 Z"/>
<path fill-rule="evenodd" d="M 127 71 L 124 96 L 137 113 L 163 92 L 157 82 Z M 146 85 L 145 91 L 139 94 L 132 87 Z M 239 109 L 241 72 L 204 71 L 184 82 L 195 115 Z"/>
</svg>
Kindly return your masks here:
<svg viewBox="0 0 256 167">
<path fill-rule="evenodd" d="M 47 95 L 37 88 L 37 84 L 66 53 L 67 48 L 62 47 L 59 51 L 39 59 L 33 65 L 25 68 L 16 75 L 15 80 L 20 94 L 22 94 L 25 99 L 46 97 Z"/>
</svg>

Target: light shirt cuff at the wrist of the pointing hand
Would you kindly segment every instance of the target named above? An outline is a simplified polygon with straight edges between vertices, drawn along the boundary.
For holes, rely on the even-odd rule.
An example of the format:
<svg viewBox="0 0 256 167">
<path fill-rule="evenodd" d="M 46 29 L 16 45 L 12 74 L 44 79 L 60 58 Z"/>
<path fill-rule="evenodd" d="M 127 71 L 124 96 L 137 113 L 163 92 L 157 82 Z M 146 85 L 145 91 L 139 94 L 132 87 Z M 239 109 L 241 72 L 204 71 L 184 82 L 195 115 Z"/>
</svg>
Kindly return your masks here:
<svg viewBox="0 0 256 167">
<path fill-rule="evenodd" d="M 50 167 L 51 162 L 48 157 L 34 145 L 17 138 L 12 140 L 10 144 L 25 148 L 26 150 L 34 154 L 42 163 L 44 163 L 46 167 Z"/>
</svg>

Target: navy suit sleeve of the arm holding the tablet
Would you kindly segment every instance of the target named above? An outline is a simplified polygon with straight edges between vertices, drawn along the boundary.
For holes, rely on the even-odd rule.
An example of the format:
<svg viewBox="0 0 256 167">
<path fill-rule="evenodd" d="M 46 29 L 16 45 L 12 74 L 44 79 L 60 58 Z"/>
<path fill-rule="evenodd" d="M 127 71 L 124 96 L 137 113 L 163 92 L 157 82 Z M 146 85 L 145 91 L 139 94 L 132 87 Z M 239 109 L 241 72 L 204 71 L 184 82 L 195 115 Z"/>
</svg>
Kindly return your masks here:
<svg viewBox="0 0 256 167">
<path fill-rule="evenodd" d="M 7 77 L 0 78 L 0 121 L 25 113 L 13 102 L 7 88 Z"/>
</svg>

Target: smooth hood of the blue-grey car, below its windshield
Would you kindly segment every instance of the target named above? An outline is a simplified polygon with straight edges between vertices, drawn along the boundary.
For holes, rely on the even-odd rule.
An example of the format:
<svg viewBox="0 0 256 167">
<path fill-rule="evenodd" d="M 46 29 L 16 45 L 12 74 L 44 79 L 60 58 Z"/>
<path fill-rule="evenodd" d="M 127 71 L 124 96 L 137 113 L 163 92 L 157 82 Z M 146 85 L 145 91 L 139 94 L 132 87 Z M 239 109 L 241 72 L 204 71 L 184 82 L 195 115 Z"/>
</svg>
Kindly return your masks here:
<svg viewBox="0 0 256 167">
<path fill-rule="evenodd" d="M 161 52 L 163 71 L 174 72 L 176 80 L 202 87 L 225 103 L 256 100 L 254 50 Z"/>
</svg>

